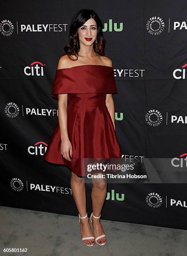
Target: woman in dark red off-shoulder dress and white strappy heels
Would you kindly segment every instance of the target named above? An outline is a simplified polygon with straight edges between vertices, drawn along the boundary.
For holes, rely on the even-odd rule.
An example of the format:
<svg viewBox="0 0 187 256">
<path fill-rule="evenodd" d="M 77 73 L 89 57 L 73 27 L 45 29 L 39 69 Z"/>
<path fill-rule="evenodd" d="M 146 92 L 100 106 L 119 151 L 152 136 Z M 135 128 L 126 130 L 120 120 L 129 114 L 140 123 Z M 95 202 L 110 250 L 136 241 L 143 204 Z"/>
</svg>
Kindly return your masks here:
<svg viewBox="0 0 187 256">
<path fill-rule="evenodd" d="M 82 9 L 70 26 L 66 55 L 58 61 L 52 95 L 58 98 L 58 123 L 45 152 L 46 161 L 71 170 L 71 189 L 78 208 L 81 239 L 87 246 L 103 246 L 106 235 L 100 213 L 107 194 L 104 179 L 92 179 L 91 231 L 86 212 L 83 158 L 121 158 L 115 133 L 117 93 L 112 61 L 104 55 L 102 24 L 93 10 Z M 67 108 L 67 102 L 69 106 Z M 97 171 L 96 171 L 97 172 Z"/>
</svg>

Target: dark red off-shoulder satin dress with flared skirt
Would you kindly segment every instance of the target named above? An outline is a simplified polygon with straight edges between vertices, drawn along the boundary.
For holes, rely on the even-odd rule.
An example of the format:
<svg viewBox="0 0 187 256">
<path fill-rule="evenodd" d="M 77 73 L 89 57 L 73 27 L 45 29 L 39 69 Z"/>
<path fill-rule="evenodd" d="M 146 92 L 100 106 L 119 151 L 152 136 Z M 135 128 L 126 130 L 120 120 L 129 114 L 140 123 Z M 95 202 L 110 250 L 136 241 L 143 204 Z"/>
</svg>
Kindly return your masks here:
<svg viewBox="0 0 187 256">
<path fill-rule="evenodd" d="M 51 95 L 68 93 L 67 128 L 73 148 L 71 161 L 61 155 L 59 123 L 51 136 L 43 159 L 64 164 L 78 176 L 86 176 L 82 159 L 121 158 L 119 143 L 108 108 L 106 94 L 116 94 L 114 68 L 81 65 L 57 69 Z"/>
</svg>

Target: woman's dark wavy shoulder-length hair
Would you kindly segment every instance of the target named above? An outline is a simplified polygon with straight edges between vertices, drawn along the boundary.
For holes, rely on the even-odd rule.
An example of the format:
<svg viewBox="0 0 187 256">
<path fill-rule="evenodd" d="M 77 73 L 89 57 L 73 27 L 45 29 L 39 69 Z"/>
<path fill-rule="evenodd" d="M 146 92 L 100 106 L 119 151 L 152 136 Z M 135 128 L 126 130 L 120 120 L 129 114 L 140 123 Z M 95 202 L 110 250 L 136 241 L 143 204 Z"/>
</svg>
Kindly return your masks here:
<svg viewBox="0 0 187 256">
<path fill-rule="evenodd" d="M 78 28 L 83 26 L 83 24 L 90 18 L 93 18 L 97 24 L 97 37 L 96 37 L 97 44 L 96 44 L 96 41 L 93 43 L 93 49 L 97 54 L 101 56 L 105 55 L 104 48 L 105 48 L 106 40 L 103 37 L 103 31 L 102 31 L 103 26 L 99 16 L 93 10 L 81 9 L 76 13 L 76 15 L 71 20 L 69 38 L 68 38 L 69 42 L 64 47 L 64 51 L 68 55 L 68 58 L 73 61 L 76 61 L 78 59 L 78 51 L 80 50 L 80 44 L 78 39 Z M 77 59 L 73 59 L 72 55 L 75 55 Z"/>
</svg>

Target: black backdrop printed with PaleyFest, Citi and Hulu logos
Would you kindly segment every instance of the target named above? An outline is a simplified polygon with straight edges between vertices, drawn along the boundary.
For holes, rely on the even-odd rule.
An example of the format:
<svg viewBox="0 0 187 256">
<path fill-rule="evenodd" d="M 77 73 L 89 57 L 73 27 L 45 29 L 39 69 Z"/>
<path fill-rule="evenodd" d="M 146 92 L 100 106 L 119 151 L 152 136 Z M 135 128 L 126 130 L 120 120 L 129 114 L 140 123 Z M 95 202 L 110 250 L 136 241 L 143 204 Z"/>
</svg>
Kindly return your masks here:
<svg viewBox="0 0 187 256">
<path fill-rule="evenodd" d="M 186 157 L 186 1 L 7 0 L 0 11 L 3 206 L 78 215 L 71 172 L 43 154 L 58 120 L 51 97 L 58 59 L 82 8 L 95 10 L 104 25 L 122 157 Z M 90 193 L 86 184 L 88 214 Z M 186 184 L 108 184 L 102 218 L 187 229 L 186 194 Z"/>
</svg>

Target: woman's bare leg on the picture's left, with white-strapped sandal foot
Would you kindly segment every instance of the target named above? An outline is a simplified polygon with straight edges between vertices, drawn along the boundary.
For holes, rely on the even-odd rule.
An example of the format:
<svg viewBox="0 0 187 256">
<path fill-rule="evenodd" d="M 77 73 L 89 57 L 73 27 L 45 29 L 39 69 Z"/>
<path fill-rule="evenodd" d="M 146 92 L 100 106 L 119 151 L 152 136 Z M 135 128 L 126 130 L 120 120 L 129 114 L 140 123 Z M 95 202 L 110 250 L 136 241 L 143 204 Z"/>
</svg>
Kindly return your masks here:
<svg viewBox="0 0 187 256">
<path fill-rule="evenodd" d="M 73 198 L 76 203 L 81 217 L 86 215 L 86 188 L 85 188 L 85 179 L 78 177 L 74 172 L 71 172 L 71 190 Z M 81 234 L 83 237 L 93 236 L 93 233 L 88 222 L 88 217 L 80 220 Z M 84 243 L 94 244 L 94 239 L 83 240 Z"/>
</svg>

